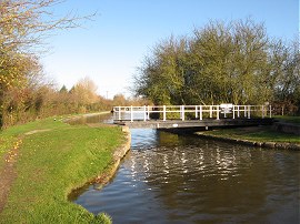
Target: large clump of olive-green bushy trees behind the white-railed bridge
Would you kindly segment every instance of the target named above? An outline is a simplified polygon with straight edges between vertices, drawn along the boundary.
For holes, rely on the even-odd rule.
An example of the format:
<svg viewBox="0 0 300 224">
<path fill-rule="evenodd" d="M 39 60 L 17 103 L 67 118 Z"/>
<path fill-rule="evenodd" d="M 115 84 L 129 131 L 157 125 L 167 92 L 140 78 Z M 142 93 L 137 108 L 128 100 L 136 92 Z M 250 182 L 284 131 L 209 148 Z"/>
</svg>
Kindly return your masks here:
<svg viewBox="0 0 300 224">
<path fill-rule="evenodd" d="M 154 104 L 263 104 L 300 112 L 299 40 L 267 35 L 251 19 L 212 21 L 192 37 L 158 43 L 136 75 L 134 91 Z"/>
</svg>

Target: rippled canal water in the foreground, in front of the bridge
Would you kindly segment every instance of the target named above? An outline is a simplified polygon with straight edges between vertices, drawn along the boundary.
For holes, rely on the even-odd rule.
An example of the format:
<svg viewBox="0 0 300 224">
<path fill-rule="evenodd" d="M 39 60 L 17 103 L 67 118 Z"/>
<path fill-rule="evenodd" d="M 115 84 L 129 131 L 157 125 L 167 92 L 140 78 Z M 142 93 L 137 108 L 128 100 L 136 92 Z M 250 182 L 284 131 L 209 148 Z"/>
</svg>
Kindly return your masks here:
<svg viewBox="0 0 300 224">
<path fill-rule="evenodd" d="M 131 138 L 111 182 L 74 203 L 113 223 L 299 223 L 299 152 L 150 129 Z"/>
</svg>

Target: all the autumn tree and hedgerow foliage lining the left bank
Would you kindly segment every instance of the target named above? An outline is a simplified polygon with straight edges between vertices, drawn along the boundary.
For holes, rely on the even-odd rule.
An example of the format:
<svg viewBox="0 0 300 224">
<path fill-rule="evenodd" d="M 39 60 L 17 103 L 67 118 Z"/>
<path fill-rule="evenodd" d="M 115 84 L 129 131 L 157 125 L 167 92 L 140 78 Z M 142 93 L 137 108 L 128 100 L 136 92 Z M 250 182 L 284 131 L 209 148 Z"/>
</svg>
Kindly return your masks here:
<svg viewBox="0 0 300 224">
<path fill-rule="evenodd" d="M 52 6 L 60 0 L 0 1 L 0 128 L 50 115 L 111 110 L 113 104 L 139 103 L 119 94 L 113 101 L 97 94 L 89 78 L 70 91 L 46 82 L 39 54 L 44 39 L 58 30 L 77 28 L 82 19 L 58 17 Z"/>
</svg>

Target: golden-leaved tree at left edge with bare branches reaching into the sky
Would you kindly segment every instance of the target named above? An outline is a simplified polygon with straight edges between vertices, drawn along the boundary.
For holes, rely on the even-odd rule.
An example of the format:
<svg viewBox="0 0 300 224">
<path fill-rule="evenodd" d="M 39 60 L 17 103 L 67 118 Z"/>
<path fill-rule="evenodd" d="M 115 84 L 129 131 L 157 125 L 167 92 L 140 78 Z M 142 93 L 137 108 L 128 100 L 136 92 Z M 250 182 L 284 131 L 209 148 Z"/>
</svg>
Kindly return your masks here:
<svg viewBox="0 0 300 224">
<path fill-rule="evenodd" d="M 43 116 L 49 104 L 54 110 L 57 94 L 42 81 L 38 53 L 48 35 L 76 28 L 80 20 L 89 18 L 72 14 L 59 18 L 52 11 L 52 6 L 58 3 L 61 1 L 0 1 L 1 128 Z M 49 108 L 43 108 L 46 104 Z"/>
</svg>

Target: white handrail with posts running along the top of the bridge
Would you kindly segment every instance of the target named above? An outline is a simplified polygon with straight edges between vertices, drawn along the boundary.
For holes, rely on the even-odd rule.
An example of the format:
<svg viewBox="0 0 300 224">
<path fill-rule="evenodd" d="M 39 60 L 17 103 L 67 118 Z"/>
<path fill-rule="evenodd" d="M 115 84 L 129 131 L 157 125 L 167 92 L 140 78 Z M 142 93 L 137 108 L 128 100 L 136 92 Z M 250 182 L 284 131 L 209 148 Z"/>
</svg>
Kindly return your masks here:
<svg viewBox="0 0 300 224">
<path fill-rule="evenodd" d="M 162 121 L 167 121 L 168 113 L 179 113 L 180 120 L 184 121 L 186 113 L 194 113 L 194 119 L 203 120 L 203 114 L 209 113 L 209 118 L 220 120 L 220 113 L 227 118 L 228 114 L 232 114 L 232 119 L 247 118 L 250 119 L 253 112 L 259 112 L 261 118 L 272 118 L 271 105 L 234 105 L 234 104 L 221 104 L 221 105 L 142 105 L 142 106 L 113 106 L 113 120 L 150 120 L 150 114 L 162 113 Z M 123 114 L 130 114 L 130 119 L 122 118 Z M 138 119 L 133 114 L 143 113 L 142 119 Z"/>
</svg>

